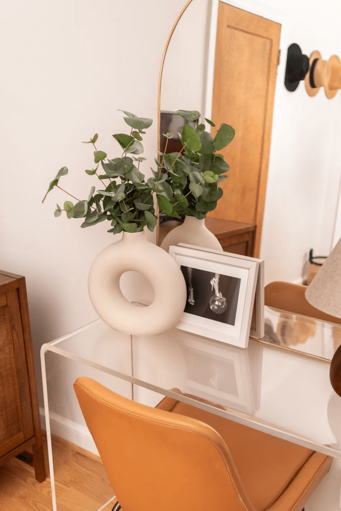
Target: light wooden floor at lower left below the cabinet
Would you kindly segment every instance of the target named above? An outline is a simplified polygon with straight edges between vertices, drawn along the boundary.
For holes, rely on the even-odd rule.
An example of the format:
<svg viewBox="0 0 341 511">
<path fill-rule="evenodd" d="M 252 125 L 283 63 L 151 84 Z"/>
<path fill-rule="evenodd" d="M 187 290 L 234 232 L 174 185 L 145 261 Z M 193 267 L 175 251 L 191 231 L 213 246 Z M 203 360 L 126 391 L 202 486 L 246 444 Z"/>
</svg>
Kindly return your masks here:
<svg viewBox="0 0 341 511">
<path fill-rule="evenodd" d="M 45 463 L 48 473 L 46 438 Z M 58 511 L 97 511 L 113 497 L 101 459 L 65 440 L 53 437 L 54 470 Z M 104 511 L 110 511 L 113 500 Z M 24 461 L 11 459 L 0 467 L 2 511 L 51 511 L 50 477 L 43 483 Z"/>
</svg>

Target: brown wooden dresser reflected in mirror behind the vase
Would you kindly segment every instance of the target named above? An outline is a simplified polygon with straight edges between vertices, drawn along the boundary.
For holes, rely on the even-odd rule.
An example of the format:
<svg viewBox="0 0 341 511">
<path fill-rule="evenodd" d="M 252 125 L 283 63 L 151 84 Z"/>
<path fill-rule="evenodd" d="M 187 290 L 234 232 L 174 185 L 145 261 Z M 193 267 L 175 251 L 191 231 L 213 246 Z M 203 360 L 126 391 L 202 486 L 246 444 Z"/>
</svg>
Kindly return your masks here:
<svg viewBox="0 0 341 511">
<path fill-rule="evenodd" d="M 169 220 L 160 225 L 160 241 L 175 227 L 177 220 Z M 218 218 L 205 218 L 205 225 L 214 234 L 225 252 L 254 257 L 256 225 Z"/>
</svg>

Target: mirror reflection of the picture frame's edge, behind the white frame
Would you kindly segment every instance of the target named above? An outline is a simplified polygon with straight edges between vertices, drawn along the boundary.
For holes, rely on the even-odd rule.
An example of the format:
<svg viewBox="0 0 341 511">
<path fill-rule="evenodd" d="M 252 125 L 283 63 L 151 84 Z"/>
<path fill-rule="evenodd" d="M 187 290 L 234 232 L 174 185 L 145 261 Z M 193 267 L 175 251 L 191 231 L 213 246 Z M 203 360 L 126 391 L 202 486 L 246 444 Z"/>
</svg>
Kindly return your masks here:
<svg viewBox="0 0 341 511">
<path fill-rule="evenodd" d="M 252 310 L 250 337 L 262 339 L 264 337 L 264 260 L 248 257 L 247 255 L 233 254 L 230 252 L 222 252 L 211 248 L 197 247 L 186 243 L 179 243 L 181 247 L 194 248 L 205 252 L 224 254 L 227 257 L 242 259 L 243 261 L 251 261 L 258 265 L 258 275 L 256 284 L 255 301 Z"/>
</svg>

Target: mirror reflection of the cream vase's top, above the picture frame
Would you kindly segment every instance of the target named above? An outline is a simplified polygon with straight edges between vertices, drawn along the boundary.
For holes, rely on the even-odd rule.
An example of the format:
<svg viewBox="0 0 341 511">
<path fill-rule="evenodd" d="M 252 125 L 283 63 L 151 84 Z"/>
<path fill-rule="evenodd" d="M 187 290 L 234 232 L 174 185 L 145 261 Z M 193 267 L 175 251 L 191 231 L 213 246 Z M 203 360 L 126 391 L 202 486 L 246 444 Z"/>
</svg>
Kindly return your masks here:
<svg viewBox="0 0 341 511">
<path fill-rule="evenodd" d="M 167 234 L 161 243 L 161 248 L 168 252 L 170 245 L 177 245 L 178 243 L 223 250 L 214 234 L 206 227 L 205 219 L 198 220 L 196 217 L 185 216 L 184 223 Z"/>
</svg>

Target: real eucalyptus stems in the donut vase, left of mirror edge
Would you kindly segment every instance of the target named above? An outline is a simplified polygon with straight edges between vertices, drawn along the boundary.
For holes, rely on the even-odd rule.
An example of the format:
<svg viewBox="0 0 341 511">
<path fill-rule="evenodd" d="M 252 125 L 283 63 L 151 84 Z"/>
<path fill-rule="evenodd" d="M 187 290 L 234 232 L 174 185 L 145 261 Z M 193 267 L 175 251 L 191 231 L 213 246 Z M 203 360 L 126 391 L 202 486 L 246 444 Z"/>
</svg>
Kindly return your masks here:
<svg viewBox="0 0 341 511">
<path fill-rule="evenodd" d="M 154 230 L 157 219 L 153 194 L 164 192 L 161 189 L 157 190 L 154 183 L 153 186 L 146 183 L 144 174 L 139 170 L 140 163 L 145 161 L 145 158 L 140 156 L 143 153 L 142 135 L 145 134 L 144 130 L 151 126 L 153 120 L 137 117 L 124 110 L 123 112 L 126 115 L 124 120 L 130 126 L 131 131 L 130 134 L 117 133 L 113 135 L 123 151 L 120 157 L 109 159 L 107 153 L 96 148 L 97 133 L 88 142 L 83 142 L 83 144 L 93 145 L 94 164 L 96 165 L 93 169 L 85 172 L 100 181 L 98 187 L 91 186 L 87 199 L 78 199 L 60 187 L 60 178 L 68 173 L 66 167 L 62 167 L 50 182 L 42 202 L 55 187 L 77 201 L 74 203 L 66 200 L 63 208 L 57 204 L 55 217 L 59 217 L 64 211 L 67 218 L 84 218 L 81 224 L 83 228 L 109 220 L 111 228 L 108 233 L 112 234 L 118 234 L 121 231 L 138 233 L 143 230 L 145 225 L 149 230 Z M 127 154 L 131 156 L 127 156 Z M 100 173 L 101 169 L 104 171 L 102 174 Z"/>
</svg>

